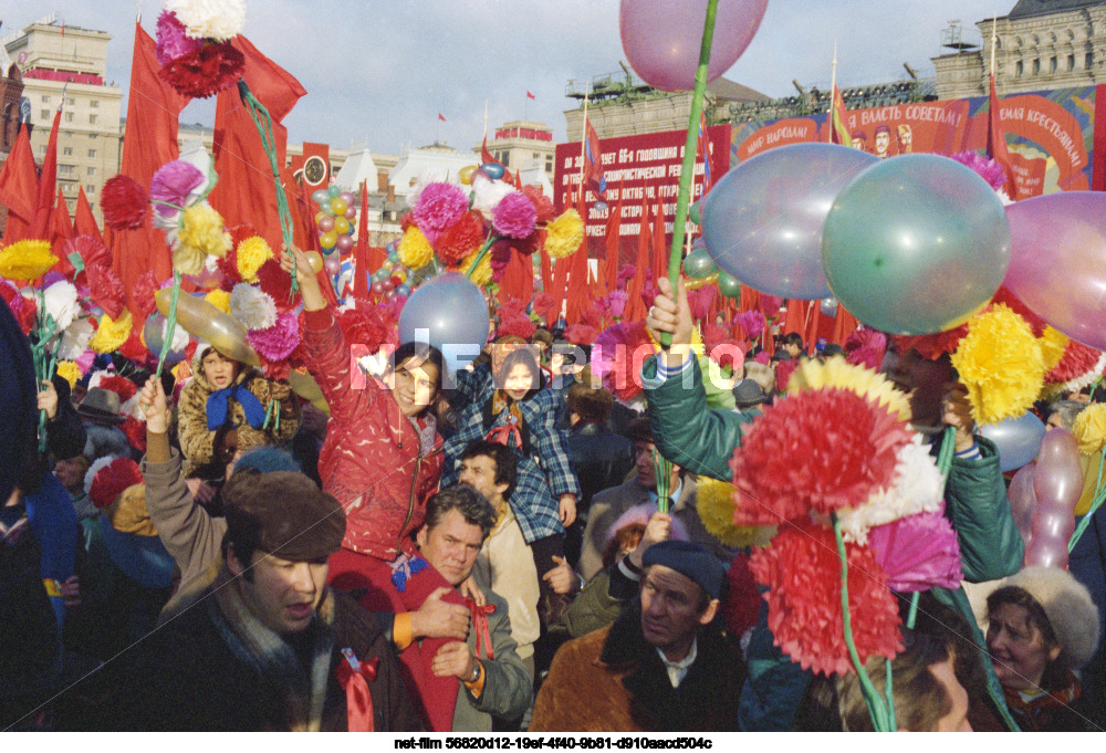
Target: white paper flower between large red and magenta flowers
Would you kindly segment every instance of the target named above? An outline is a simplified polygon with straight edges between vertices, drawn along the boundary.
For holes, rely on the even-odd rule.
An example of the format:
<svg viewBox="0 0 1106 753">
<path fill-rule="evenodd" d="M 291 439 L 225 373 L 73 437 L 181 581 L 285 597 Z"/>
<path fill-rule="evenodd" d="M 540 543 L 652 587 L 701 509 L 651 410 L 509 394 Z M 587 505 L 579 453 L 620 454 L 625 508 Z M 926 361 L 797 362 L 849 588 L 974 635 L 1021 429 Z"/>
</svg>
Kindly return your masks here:
<svg viewBox="0 0 1106 753">
<path fill-rule="evenodd" d="M 940 510 L 943 489 L 937 462 L 922 445 L 921 435 L 915 433 L 910 443 L 898 452 L 891 485 L 877 491 L 858 508 L 837 511 L 842 536 L 848 542 L 866 544 L 868 530 L 876 525 L 920 512 L 936 512 Z"/>
</svg>

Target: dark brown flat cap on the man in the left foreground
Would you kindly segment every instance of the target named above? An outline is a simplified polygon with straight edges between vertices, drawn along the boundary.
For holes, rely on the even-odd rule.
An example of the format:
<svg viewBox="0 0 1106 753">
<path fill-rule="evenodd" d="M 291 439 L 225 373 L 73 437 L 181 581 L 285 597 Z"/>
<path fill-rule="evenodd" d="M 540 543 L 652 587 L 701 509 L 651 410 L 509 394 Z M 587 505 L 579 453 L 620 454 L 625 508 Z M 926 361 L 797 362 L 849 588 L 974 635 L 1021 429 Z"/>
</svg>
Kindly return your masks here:
<svg viewBox="0 0 1106 753">
<path fill-rule="evenodd" d="M 305 562 L 337 552 L 345 512 L 303 473 L 244 470 L 222 488 L 231 541 L 282 559 Z"/>
</svg>

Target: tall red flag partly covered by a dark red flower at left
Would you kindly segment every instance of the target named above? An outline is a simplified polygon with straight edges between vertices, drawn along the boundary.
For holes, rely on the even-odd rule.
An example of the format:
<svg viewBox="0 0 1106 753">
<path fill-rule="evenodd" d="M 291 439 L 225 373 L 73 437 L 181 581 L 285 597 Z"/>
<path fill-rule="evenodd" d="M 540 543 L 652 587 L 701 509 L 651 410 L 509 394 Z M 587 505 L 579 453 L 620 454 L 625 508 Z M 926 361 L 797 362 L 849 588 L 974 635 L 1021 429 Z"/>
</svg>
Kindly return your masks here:
<svg viewBox="0 0 1106 753">
<path fill-rule="evenodd" d="M 127 137 L 123 142 L 119 171 L 143 186 L 149 186 L 154 172 L 179 155 L 177 119 L 189 102 L 157 74 L 161 66 L 155 50 L 154 40 L 136 21 L 127 96 Z M 173 274 L 165 233 L 155 229 L 149 220 L 137 230 L 107 228 L 104 239 L 112 250 L 112 266 L 123 281 L 128 299 L 135 282 L 147 270 L 154 270 L 160 280 Z"/>
</svg>

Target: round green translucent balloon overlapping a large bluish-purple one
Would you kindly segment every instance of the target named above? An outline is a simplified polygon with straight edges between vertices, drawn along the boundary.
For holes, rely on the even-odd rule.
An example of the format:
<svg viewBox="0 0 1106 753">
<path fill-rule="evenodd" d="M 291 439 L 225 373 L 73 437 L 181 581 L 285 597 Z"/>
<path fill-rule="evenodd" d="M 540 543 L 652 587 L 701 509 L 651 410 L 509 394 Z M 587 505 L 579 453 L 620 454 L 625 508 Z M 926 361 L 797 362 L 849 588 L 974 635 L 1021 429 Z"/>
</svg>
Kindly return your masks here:
<svg viewBox="0 0 1106 753">
<path fill-rule="evenodd" d="M 709 236 L 707 244 L 716 250 Z M 942 332 L 999 290 L 1010 226 L 998 196 L 971 168 L 937 155 L 899 155 L 864 170 L 834 200 L 822 263 L 834 295 L 868 326 Z"/>
</svg>

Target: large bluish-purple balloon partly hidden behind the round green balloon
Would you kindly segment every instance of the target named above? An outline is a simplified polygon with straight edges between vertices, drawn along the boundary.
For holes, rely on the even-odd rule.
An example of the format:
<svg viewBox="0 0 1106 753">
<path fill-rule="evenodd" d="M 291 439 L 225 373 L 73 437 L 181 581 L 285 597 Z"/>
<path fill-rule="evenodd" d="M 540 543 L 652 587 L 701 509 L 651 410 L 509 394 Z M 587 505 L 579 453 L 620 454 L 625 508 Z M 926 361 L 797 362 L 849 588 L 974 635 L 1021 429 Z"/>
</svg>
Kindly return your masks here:
<svg viewBox="0 0 1106 753">
<path fill-rule="evenodd" d="M 711 257 L 770 295 L 826 297 L 826 215 L 842 189 L 878 161 L 836 144 L 793 144 L 741 163 L 702 200 L 702 233 Z"/>
</svg>

